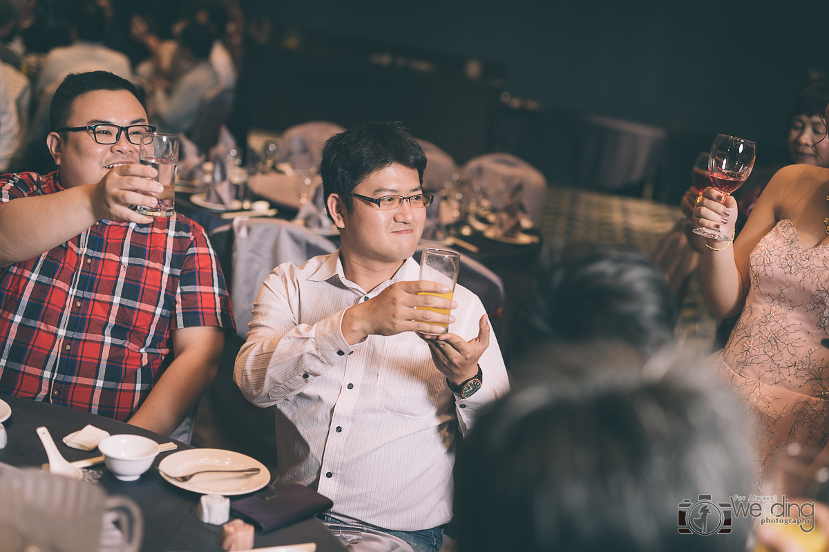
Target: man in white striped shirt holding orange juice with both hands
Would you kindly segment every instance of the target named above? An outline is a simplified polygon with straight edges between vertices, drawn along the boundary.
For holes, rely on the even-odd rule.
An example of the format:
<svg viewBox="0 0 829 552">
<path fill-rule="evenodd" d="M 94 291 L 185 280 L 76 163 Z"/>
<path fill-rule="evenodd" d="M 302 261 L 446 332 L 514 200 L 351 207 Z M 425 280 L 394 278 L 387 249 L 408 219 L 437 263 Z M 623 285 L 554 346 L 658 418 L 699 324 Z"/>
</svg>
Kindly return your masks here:
<svg viewBox="0 0 829 552">
<path fill-rule="evenodd" d="M 331 498 L 325 522 L 360 534 L 355 550 L 440 549 L 458 430 L 509 390 L 481 301 L 461 285 L 452 299 L 418 294 L 449 291 L 419 281 L 411 258 L 432 199 L 425 166 L 398 124 L 328 140 L 321 174 L 341 248 L 269 274 L 236 359 L 245 396 L 276 405 L 279 484 Z"/>
</svg>

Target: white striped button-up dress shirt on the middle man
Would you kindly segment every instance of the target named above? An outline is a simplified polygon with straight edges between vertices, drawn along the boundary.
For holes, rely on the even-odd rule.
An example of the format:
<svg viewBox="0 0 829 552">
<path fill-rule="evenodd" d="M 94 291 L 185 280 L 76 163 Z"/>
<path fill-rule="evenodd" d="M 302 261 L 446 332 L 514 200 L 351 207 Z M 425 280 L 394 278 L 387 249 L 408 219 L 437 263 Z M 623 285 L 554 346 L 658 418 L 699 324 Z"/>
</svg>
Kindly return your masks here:
<svg viewBox="0 0 829 552">
<path fill-rule="evenodd" d="M 414 281 L 406 259 L 371 292 L 343 275 L 339 251 L 302 267 L 281 264 L 256 297 L 235 380 L 258 406 L 277 405 L 279 483 L 302 483 L 334 502 L 332 516 L 389 530 L 422 530 L 452 516 L 454 439 L 476 411 L 509 390 L 495 334 L 478 362 L 483 385 L 468 399 L 448 389 L 414 332 L 342 337 L 348 307 L 391 283 Z M 456 286 L 449 331 L 470 340 L 485 313 Z"/>
</svg>

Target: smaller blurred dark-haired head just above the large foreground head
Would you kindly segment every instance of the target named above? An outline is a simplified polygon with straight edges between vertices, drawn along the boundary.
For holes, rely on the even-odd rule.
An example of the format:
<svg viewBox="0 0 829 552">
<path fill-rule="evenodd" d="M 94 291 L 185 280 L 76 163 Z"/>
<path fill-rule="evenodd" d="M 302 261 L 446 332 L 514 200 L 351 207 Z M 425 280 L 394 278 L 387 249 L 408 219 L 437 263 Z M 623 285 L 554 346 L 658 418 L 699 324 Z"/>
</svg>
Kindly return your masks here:
<svg viewBox="0 0 829 552">
<path fill-rule="evenodd" d="M 679 312 L 664 274 L 620 247 L 548 253 L 524 307 L 527 341 L 622 341 L 651 356 L 670 343 Z"/>
</svg>

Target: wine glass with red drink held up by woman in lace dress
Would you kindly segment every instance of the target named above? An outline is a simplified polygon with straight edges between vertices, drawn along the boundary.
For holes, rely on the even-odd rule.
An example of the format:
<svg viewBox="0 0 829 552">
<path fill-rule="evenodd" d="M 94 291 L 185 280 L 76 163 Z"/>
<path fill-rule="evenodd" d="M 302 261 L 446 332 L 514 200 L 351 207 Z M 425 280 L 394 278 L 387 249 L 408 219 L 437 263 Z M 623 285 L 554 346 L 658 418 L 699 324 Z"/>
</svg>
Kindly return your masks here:
<svg viewBox="0 0 829 552">
<path fill-rule="evenodd" d="M 708 177 L 711 186 L 726 197 L 743 185 L 754 167 L 757 145 L 743 138 L 717 134 L 708 156 Z M 722 235 L 707 228 L 695 228 L 694 234 L 704 235 L 713 240 L 731 241 L 732 236 Z"/>
</svg>

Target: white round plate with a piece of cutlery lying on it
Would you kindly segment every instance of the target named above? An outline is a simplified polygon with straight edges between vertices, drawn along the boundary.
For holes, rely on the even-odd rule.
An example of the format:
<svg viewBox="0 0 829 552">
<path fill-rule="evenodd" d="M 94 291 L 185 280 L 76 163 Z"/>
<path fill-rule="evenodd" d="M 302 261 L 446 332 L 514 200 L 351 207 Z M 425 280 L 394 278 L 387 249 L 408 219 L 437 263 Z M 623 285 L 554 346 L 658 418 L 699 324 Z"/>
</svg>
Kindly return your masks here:
<svg viewBox="0 0 829 552">
<path fill-rule="evenodd" d="M 244 470 L 258 467 L 261 470 L 255 476 L 225 475 L 222 473 L 200 473 L 187 482 L 178 482 L 171 477 L 187 475 L 199 470 Z M 270 482 L 270 472 L 262 462 L 221 448 L 191 448 L 172 453 L 158 463 L 161 477 L 176 487 L 201 494 L 234 496 L 259 491 Z"/>
</svg>

